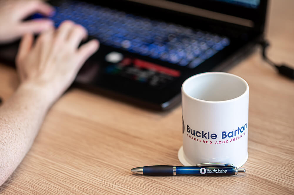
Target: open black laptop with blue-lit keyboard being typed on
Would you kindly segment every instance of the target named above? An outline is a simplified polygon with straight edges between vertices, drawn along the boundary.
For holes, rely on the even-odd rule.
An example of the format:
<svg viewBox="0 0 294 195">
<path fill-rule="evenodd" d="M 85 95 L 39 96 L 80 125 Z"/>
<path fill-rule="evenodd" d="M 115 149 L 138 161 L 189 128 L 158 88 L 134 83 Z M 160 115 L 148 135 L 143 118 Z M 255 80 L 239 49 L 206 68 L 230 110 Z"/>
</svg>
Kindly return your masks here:
<svg viewBox="0 0 294 195">
<path fill-rule="evenodd" d="M 100 41 L 76 85 L 156 110 L 181 102 L 188 77 L 226 71 L 250 54 L 263 37 L 267 8 L 267 0 L 48 2 L 56 26 L 73 20 Z M 13 61 L 16 45 L 2 46 L 0 58 Z"/>
</svg>

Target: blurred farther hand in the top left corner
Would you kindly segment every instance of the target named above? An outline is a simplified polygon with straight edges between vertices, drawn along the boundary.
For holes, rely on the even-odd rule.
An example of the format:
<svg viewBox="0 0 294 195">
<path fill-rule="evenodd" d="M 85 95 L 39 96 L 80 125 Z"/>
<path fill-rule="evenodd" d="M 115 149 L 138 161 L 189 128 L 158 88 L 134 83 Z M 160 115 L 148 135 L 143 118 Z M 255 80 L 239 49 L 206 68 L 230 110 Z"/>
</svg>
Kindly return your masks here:
<svg viewBox="0 0 294 195">
<path fill-rule="evenodd" d="M 37 12 L 50 16 L 54 8 L 38 0 L 0 0 L 0 43 L 11 42 L 25 33 L 49 29 L 53 25 L 49 19 L 22 21 Z"/>
</svg>

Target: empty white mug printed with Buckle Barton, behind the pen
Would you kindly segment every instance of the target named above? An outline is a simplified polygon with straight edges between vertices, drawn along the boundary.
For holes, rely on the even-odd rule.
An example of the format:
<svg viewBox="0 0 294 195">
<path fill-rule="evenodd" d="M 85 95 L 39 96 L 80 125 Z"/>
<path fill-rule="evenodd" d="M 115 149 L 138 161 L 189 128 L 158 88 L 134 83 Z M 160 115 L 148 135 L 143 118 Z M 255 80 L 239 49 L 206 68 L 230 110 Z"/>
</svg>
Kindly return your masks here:
<svg viewBox="0 0 294 195">
<path fill-rule="evenodd" d="M 241 167 L 248 159 L 248 102 L 249 86 L 239 76 L 208 72 L 188 78 L 182 85 L 180 162 Z"/>
</svg>

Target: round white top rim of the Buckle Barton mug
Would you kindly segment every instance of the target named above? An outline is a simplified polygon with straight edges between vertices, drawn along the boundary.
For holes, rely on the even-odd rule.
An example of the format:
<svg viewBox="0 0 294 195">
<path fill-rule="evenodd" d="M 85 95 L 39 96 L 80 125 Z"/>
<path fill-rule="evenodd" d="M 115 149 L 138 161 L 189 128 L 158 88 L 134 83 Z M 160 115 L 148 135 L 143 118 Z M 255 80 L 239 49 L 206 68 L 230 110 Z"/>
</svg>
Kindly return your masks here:
<svg viewBox="0 0 294 195">
<path fill-rule="evenodd" d="M 238 78 L 239 80 L 241 80 L 245 86 L 246 86 L 246 90 L 244 91 L 244 93 L 242 93 L 241 95 L 239 95 L 238 97 L 236 98 L 232 98 L 232 99 L 229 99 L 229 100 L 221 100 L 221 101 L 208 101 L 208 100 L 201 100 L 201 99 L 198 99 L 198 98 L 194 98 L 192 97 L 191 95 L 187 94 L 186 91 L 184 90 L 184 85 L 187 83 L 188 80 L 192 79 L 192 78 L 195 78 L 195 77 L 198 77 L 198 76 L 202 76 L 202 75 L 205 75 L 205 74 L 223 74 L 223 75 L 230 75 L 230 76 L 234 76 L 236 78 Z M 199 101 L 199 102 L 205 102 L 205 103 L 225 103 L 225 102 L 230 102 L 230 101 L 235 101 L 235 100 L 238 100 L 240 98 L 242 98 L 243 96 L 245 96 L 249 91 L 249 85 L 248 83 L 243 79 L 241 78 L 240 76 L 237 76 L 235 74 L 231 74 L 231 73 L 227 73 L 227 72 L 204 72 L 204 73 L 199 73 L 199 74 L 196 74 L 196 75 L 193 75 L 193 76 L 190 76 L 189 78 L 187 78 L 183 84 L 182 84 L 182 93 L 192 99 L 192 100 L 196 100 L 196 101 Z"/>
</svg>

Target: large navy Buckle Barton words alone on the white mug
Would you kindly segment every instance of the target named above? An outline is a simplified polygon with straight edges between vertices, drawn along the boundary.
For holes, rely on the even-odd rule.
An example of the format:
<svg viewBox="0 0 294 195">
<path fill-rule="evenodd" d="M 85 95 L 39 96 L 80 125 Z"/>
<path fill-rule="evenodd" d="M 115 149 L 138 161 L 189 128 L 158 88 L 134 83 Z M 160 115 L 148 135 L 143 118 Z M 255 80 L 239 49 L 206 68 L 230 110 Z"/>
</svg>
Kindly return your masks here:
<svg viewBox="0 0 294 195">
<path fill-rule="evenodd" d="M 227 131 L 222 131 L 221 138 L 225 139 L 227 137 L 234 137 L 236 135 L 242 134 L 245 129 L 247 129 L 247 123 L 245 123 L 244 126 L 241 126 L 241 128 L 238 127 L 238 129 L 236 129 L 235 131 L 230 131 L 228 133 Z M 204 131 L 195 131 L 195 129 L 190 128 L 189 125 L 187 125 L 187 132 L 193 136 L 202 137 L 203 139 L 216 139 L 218 137 L 216 134 L 210 134 L 209 131 L 207 133 L 204 133 Z"/>
</svg>

